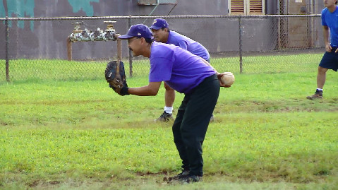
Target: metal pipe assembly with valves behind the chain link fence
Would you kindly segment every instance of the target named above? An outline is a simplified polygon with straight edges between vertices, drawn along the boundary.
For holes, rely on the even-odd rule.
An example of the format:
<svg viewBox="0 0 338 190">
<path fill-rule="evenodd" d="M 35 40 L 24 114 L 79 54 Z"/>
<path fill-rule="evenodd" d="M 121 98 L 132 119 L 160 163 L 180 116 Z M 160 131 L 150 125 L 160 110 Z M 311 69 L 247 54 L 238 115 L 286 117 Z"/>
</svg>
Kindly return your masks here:
<svg viewBox="0 0 338 190">
<path fill-rule="evenodd" d="M 87 28 L 85 30 L 81 30 L 81 25 L 83 25 L 83 22 L 76 22 L 73 23 L 74 30 L 67 37 L 67 55 L 68 55 L 68 61 L 72 60 L 72 42 L 95 42 L 95 41 L 116 41 L 117 40 L 117 54 L 118 59 L 121 60 L 122 52 L 121 52 L 121 40 L 118 40 L 117 37 L 120 35 L 115 32 L 113 23 L 116 23 L 116 21 L 104 21 L 104 23 L 107 23 L 107 29 L 101 30 L 100 28 L 97 28 L 94 32 L 91 32 Z"/>
</svg>

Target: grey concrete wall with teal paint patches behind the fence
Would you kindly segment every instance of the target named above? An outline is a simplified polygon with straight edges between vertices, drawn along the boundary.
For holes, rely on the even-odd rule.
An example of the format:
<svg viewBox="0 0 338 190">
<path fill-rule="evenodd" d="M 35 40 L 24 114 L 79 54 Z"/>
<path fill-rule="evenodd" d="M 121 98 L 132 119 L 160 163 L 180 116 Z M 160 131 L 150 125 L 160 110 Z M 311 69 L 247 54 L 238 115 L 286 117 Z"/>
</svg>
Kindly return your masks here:
<svg viewBox="0 0 338 190">
<path fill-rule="evenodd" d="M 3 0 L 0 17 L 63 17 L 63 16 L 180 16 L 227 15 L 228 0 L 177 0 L 171 4 L 139 6 L 136 0 Z M 80 2 L 80 3 L 79 3 Z M 266 1 L 267 14 L 277 13 L 277 1 Z M 67 59 L 66 38 L 76 20 L 11 21 L 11 58 Z M 82 28 L 104 29 L 104 20 L 83 20 Z M 120 34 L 128 30 L 128 20 L 117 20 L 115 29 Z M 210 52 L 229 52 L 239 49 L 239 22 L 236 18 L 168 19 L 171 30 L 180 32 L 203 44 Z M 132 24 L 150 20 L 132 20 Z M 276 20 L 243 19 L 243 50 L 270 51 L 276 46 Z M 4 49 L 4 22 L 0 23 L 0 48 Z M 116 56 L 116 42 L 73 43 L 73 59 L 106 59 Z M 128 56 L 123 42 L 123 57 Z M 0 51 L 4 59 L 4 51 Z"/>
</svg>

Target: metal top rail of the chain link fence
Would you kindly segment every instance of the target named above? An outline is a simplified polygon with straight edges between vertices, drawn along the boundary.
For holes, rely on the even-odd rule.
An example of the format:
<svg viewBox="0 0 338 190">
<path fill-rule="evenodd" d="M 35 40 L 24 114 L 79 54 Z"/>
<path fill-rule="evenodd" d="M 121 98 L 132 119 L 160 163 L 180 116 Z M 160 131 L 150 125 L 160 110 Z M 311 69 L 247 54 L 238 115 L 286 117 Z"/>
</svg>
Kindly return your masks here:
<svg viewBox="0 0 338 190">
<path fill-rule="evenodd" d="M 257 16 L 73 16 L 73 17 L 6 17 L 5 20 L 112 20 L 112 19 L 145 19 L 145 18 L 286 18 L 286 17 L 320 17 L 320 14 L 310 15 L 257 15 Z"/>
</svg>

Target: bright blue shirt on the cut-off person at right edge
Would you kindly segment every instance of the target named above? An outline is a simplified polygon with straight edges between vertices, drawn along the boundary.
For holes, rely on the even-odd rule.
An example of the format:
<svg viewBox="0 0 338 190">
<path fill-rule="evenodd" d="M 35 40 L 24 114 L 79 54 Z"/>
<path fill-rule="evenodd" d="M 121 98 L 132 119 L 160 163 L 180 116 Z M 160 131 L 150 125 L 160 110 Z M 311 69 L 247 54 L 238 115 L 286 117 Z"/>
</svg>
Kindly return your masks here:
<svg viewBox="0 0 338 190">
<path fill-rule="evenodd" d="M 331 46 L 338 47 L 338 6 L 333 13 L 327 8 L 322 9 L 322 25 L 330 28 Z"/>
</svg>

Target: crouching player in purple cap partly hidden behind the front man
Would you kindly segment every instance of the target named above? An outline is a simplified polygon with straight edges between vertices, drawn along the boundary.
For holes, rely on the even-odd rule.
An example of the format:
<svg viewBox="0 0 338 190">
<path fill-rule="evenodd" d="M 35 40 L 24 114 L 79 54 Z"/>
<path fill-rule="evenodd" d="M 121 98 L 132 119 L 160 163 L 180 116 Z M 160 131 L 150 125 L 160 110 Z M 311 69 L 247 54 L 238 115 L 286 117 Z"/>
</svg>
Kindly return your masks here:
<svg viewBox="0 0 338 190">
<path fill-rule="evenodd" d="M 152 35 L 154 36 L 155 41 L 166 44 L 174 44 L 188 50 L 198 57 L 202 57 L 210 63 L 210 54 L 207 52 L 207 49 L 202 44 L 191 40 L 191 38 L 181 35 L 178 32 L 169 30 L 169 24 L 167 23 L 167 20 L 163 18 L 156 18 L 150 26 L 150 29 L 152 30 Z M 164 94 L 164 112 L 158 119 L 155 120 L 166 122 L 170 119 L 173 119 L 172 112 L 175 101 L 175 90 L 170 88 L 167 83 L 164 83 L 164 88 L 166 89 Z M 214 119 L 215 117 L 212 115 L 210 121 L 213 121 Z"/>
</svg>

